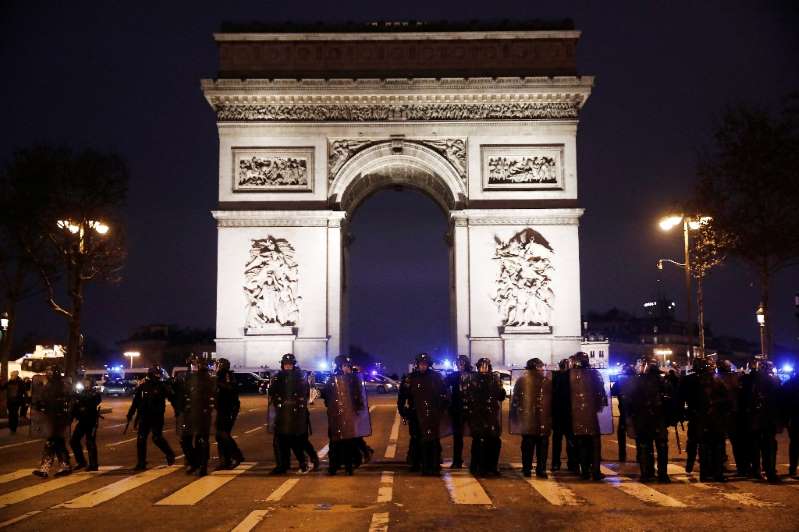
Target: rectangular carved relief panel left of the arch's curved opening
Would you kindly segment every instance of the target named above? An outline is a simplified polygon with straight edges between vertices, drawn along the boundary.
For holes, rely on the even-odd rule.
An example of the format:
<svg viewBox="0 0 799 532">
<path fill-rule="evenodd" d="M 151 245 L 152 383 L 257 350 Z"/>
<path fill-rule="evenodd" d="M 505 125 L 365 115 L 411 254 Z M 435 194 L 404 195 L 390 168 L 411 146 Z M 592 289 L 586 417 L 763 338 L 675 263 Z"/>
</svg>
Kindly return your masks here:
<svg viewBox="0 0 799 532">
<path fill-rule="evenodd" d="M 313 190 L 313 148 L 234 148 L 234 192 Z"/>
</svg>

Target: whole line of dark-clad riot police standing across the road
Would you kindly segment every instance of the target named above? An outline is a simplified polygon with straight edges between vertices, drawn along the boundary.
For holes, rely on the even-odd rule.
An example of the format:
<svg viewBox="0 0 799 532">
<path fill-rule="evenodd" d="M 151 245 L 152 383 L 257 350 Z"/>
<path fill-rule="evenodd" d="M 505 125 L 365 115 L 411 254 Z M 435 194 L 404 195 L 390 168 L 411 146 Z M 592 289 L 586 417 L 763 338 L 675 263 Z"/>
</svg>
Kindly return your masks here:
<svg viewBox="0 0 799 532">
<path fill-rule="evenodd" d="M 231 436 L 239 413 L 235 374 L 224 358 L 211 372 L 199 358 L 189 361 L 190 371 L 174 379 L 153 365 L 136 388 L 128 424 L 137 431 L 136 470 L 147 468 L 147 439 L 164 453 L 172 465 L 175 452 L 163 436 L 166 401 L 175 411 L 180 447 L 186 457 L 186 473 L 208 473 L 213 412 L 219 449 L 217 469 L 233 469 L 244 456 Z M 438 475 L 441 469 L 441 438 L 453 437 L 453 469 L 463 467 L 464 436 L 471 436 L 469 470 L 478 476 L 499 475 L 502 445 L 502 401 L 505 390 L 491 362 L 481 358 L 473 371 L 470 360 L 459 356 L 457 371 L 442 377 L 433 369 L 427 353 L 416 357 L 413 371 L 402 378 L 397 408 L 408 426 L 410 444 L 407 462 L 411 471 Z M 373 451 L 364 438 L 371 435 L 371 419 L 363 381 L 347 356 L 335 359 L 335 371 L 322 388 L 327 411 L 329 444 L 328 474 L 343 469 L 352 475 L 369 462 Z M 320 468 L 319 457 L 309 441 L 311 421 L 308 404 L 315 390 L 312 372 L 301 371 L 292 354 L 280 361 L 268 391 L 267 427 L 273 434 L 276 465 L 272 474 L 290 469 L 291 454 L 299 470 Z M 799 459 L 799 378 L 794 375 L 781 386 L 769 361 L 759 361 L 748 373 L 736 372 L 729 361 L 718 368 L 711 358 L 697 358 L 693 371 L 678 376 L 663 374 L 655 359 L 642 359 L 636 367 L 625 366 L 611 394 L 619 400 L 617 427 L 619 460 L 626 461 L 627 437 L 633 438 L 640 481 L 669 482 L 669 428 L 687 422 L 686 471 L 699 459 L 701 481 L 723 482 L 726 441 L 729 439 L 737 475 L 778 482 L 776 434 L 783 427 L 790 436 L 789 474 L 796 475 Z M 546 478 L 550 437 L 550 470 L 561 467 L 565 441 L 567 467 L 585 480 L 603 478 L 600 470 L 601 428 L 599 414 L 608 397 L 602 375 L 590 367 L 585 353 L 576 353 L 549 371 L 538 358 L 523 370 L 515 370 L 509 414 L 509 432 L 521 439 L 522 472 Z M 17 394 L 21 382 L 12 379 L 6 392 Z M 18 398 L 10 404 L 18 404 Z M 95 437 L 100 395 L 86 379 L 73 391 L 56 366 L 32 383 L 31 431 L 46 439 L 40 477 L 67 475 L 73 469 L 98 470 Z M 66 447 L 72 421 L 70 446 L 77 465 L 73 468 Z M 12 430 L 16 427 L 12 427 Z M 127 427 L 126 429 L 127 430 Z M 676 431 L 675 431 L 676 432 Z M 680 445 L 679 433 L 676 433 Z M 85 439 L 88 463 L 81 440 Z M 657 460 L 655 460 L 655 453 Z M 310 461 L 310 466 L 309 466 Z M 657 464 L 657 467 L 656 467 Z"/>
</svg>

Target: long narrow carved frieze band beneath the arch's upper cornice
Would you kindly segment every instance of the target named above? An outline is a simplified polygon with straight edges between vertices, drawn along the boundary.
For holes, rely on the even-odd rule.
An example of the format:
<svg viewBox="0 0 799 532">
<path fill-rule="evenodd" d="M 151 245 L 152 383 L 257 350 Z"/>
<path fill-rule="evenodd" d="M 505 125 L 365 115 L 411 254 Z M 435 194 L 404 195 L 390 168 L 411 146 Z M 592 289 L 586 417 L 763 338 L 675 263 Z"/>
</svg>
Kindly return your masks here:
<svg viewBox="0 0 799 532">
<path fill-rule="evenodd" d="M 216 106 L 222 122 L 392 122 L 404 120 L 576 119 L 578 102 L 237 104 Z"/>
</svg>

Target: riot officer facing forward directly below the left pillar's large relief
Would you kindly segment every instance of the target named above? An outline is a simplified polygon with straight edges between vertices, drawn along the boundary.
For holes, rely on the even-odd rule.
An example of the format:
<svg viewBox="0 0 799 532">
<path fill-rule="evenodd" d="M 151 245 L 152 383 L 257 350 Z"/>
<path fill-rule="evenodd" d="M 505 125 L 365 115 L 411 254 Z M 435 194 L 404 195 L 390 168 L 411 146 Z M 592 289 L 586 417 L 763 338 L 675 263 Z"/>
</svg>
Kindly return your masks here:
<svg viewBox="0 0 799 532">
<path fill-rule="evenodd" d="M 305 443 L 308 439 L 309 397 L 310 388 L 305 373 L 297 367 L 294 355 L 286 353 L 280 359 L 280 371 L 272 378 L 269 386 L 267 426 L 274 434 L 274 475 L 281 475 L 289 470 L 292 451 L 300 470 L 308 470 Z"/>
</svg>

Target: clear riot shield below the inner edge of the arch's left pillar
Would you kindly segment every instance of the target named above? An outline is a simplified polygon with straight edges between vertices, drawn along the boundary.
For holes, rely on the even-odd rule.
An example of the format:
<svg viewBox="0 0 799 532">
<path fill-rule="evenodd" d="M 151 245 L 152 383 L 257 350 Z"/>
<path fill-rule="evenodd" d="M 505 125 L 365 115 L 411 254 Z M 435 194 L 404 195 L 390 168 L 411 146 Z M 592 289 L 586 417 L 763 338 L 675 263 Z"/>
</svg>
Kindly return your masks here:
<svg viewBox="0 0 799 532">
<path fill-rule="evenodd" d="M 366 388 L 357 375 L 331 375 L 325 384 L 325 401 L 331 441 L 372 434 Z"/>
</svg>

